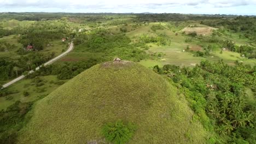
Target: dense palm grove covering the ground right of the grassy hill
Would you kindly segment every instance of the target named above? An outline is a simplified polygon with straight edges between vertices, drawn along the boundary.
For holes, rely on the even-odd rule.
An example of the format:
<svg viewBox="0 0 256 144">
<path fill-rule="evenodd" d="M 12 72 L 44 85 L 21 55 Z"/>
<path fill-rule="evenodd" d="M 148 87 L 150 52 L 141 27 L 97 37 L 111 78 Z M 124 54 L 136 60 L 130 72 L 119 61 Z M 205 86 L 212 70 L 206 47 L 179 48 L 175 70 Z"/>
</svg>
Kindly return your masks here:
<svg viewBox="0 0 256 144">
<path fill-rule="evenodd" d="M 214 143 L 255 143 L 255 95 L 248 99 L 247 88 L 255 93 L 255 66 L 236 62 L 231 67 L 222 61 L 202 61 L 193 69 L 175 65 L 154 67 L 181 86 L 191 109 L 204 128 L 216 133 Z M 250 133 L 251 135 L 247 135 Z"/>
</svg>

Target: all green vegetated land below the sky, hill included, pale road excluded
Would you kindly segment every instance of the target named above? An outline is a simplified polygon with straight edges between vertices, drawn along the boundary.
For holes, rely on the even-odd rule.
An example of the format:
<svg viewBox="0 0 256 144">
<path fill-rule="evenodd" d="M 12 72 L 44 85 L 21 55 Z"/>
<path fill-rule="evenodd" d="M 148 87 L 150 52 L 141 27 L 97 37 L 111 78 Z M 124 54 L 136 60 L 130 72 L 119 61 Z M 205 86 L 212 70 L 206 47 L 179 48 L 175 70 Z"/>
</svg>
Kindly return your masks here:
<svg viewBox="0 0 256 144">
<path fill-rule="evenodd" d="M 75 46 L 0 90 L 0 143 L 254 144 L 255 28 L 254 16 L 1 13 L 1 85 Z"/>
</svg>

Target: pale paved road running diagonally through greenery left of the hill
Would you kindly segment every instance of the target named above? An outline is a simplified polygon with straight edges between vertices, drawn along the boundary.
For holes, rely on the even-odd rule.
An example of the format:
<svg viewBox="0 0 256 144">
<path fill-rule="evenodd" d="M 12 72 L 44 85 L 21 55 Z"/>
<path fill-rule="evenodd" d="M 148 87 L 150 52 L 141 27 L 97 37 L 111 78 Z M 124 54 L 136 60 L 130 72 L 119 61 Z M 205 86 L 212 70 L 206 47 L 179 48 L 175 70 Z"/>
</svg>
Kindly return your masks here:
<svg viewBox="0 0 256 144">
<path fill-rule="evenodd" d="M 60 59 L 60 58 L 62 58 L 63 56 L 67 55 L 67 53 L 71 52 L 71 51 L 73 50 L 73 47 L 74 47 L 74 44 L 73 44 L 73 42 L 72 42 L 72 43 L 69 45 L 67 51 L 61 53 L 61 55 L 59 55 L 59 56 L 57 56 L 57 57 L 51 59 L 50 61 L 44 63 L 43 65 L 46 66 L 46 65 L 49 65 L 49 64 L 51 64 L 51 63 L 57 61 L 58 59 Z M 40 65 L 39 67 L 37 67 L 36 70 L 39 70 L 40 67 L 42 67 L 42 65 Z M 34 73 L 34 70 L 31 70 L 31 71 L 29 71 L 28 73 L 29 73 L 29 74 Z M 26 75 L 21 75 L 21 76 L 17 77 L 16 79 L 14 79 L 14 80 L 12 80 L 12 81 L 10 81 L 10 82 L 4 84 L 4 85 L 2 86 L 2 88 L 5 88 L 5 87 L 8 87 L 8 86 L 12 85 L 13 83 L 15 83 L 15 82 L 17 82 L 17 81 L 23 79 L 25 76 L 26 76 Z"/>
</svg>

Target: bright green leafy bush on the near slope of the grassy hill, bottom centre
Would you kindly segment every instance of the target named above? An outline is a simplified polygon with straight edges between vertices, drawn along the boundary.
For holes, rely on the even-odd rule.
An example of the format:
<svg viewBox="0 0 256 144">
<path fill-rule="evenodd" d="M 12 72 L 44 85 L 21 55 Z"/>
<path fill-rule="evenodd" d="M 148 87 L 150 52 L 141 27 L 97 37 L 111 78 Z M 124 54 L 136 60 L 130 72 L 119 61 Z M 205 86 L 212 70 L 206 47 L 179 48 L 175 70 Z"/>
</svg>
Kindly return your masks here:
<svg viewBox="0 0 256 144">
<path fill-rule="evenodd" d="M 117 144 L 128 142 L 133 136 L 136 126 L 132 123 L 126 125 L 123 121 L 118 120 L 115 123 L 108 123 L 103 126 L 102 134 L 107 141 Z"/>
</svg>

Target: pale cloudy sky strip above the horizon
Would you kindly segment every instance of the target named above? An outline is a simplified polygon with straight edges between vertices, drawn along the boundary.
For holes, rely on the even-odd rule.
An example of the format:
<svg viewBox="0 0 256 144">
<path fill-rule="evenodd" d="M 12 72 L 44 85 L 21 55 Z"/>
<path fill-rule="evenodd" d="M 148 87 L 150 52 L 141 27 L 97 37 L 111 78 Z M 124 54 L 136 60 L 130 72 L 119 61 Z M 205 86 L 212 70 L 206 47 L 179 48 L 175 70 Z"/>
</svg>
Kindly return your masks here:
<svg viewBox="0 0 256 144">
<path fill-rule="evenodd" d="M 256 15 L 256 0 L 0 0 L 0 12 Z"/>
</svg>

